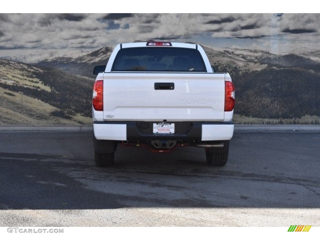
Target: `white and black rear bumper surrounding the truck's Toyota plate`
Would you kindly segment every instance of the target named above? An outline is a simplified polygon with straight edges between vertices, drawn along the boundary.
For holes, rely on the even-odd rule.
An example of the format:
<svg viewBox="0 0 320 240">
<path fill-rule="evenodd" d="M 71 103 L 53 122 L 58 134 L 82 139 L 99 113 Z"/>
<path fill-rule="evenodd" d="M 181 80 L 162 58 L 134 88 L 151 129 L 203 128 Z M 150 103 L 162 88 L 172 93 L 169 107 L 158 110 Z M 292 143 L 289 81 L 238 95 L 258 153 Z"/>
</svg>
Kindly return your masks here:
<svg viewBox="0 0 320 240">
<path fill-rule="evenodd" d="M 178 140 L 188 143 L 230 140 L 232 122 L 173 122 L 173 134 L 154 134 L 152 122 L 93 122 L 94 136 L 98 140 L 144 142 L 150 140 Z"/>
</svg>

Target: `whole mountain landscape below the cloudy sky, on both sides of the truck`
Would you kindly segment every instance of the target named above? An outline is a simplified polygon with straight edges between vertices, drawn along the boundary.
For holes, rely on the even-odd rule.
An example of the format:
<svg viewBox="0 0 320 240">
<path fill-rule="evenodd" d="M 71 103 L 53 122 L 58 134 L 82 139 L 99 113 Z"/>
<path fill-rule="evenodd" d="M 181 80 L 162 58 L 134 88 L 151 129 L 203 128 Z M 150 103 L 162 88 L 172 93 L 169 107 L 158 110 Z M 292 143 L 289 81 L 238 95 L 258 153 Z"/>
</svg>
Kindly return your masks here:
<svg viewBox="0 0 320 240">
<path fill-rule="evenodd" d="M 319 123 L 320 51 L 203 47 L 216 72 L 233 79 L 236 123 Z M 112 48 L 33 64 L 0 60 L 0 124 L 89 124 L 92 70 Z"/>
</svg>

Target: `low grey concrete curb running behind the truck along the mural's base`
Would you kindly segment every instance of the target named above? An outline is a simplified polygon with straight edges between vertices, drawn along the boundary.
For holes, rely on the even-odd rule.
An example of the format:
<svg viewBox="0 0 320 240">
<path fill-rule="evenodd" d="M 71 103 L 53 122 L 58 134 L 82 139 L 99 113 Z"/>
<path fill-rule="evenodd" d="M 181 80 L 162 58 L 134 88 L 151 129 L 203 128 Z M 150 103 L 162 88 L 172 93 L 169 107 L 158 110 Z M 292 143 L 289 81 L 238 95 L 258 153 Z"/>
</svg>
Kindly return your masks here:
<svg viewBox="0 0 320 240">
<path fill-rule="evenodd" d="M 89 132 L 92 131 L 92 125 L 7 125 L 0 126 L 0 131 L 60 131 L 60 132 Z M 277 132 L 277 131 L 320 131 L 320 125 L 235 125 L 235 132 Z"/>
</svg>

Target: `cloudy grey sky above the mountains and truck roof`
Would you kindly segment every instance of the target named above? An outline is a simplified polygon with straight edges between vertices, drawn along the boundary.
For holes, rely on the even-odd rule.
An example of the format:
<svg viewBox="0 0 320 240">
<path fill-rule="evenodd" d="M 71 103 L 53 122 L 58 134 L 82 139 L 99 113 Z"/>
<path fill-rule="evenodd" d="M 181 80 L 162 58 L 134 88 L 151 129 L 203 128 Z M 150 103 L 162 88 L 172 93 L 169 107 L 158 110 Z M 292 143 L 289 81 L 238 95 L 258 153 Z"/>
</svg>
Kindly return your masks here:
<svg viewBox="0 0 320 240">
<path fill-rule="evenodd" d="M 0 57 L 17 52 L 93 51 L 148 39 L 279 53 L 319 50 L 319 26 L 319 13 L 2 13 Z"/>
</svg>

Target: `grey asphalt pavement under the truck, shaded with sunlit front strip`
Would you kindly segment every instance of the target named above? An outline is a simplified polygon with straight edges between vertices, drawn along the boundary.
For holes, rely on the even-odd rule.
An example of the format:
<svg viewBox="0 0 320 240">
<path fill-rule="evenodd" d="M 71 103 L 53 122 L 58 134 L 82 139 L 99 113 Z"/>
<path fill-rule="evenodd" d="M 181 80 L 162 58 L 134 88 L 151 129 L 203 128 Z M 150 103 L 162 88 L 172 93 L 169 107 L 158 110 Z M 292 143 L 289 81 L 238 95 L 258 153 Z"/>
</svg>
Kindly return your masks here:
<svg viewBox="0 0 320 240">
<path fill-rule="evenodd" d="M 25 127 L 0 129 L 2 227 L 320 226 L 316 129 L 236 128 L 224 167 L 202 148 L 118 147 L 97 168 L 90 126 Z"/>
</svg>

